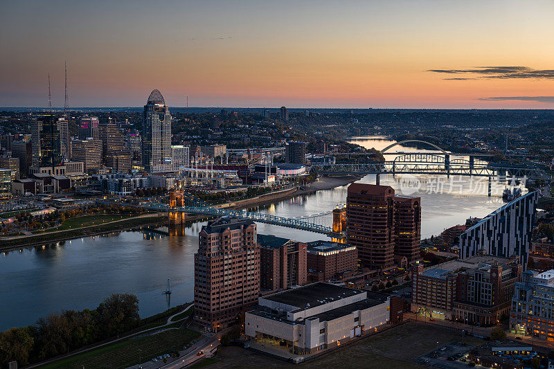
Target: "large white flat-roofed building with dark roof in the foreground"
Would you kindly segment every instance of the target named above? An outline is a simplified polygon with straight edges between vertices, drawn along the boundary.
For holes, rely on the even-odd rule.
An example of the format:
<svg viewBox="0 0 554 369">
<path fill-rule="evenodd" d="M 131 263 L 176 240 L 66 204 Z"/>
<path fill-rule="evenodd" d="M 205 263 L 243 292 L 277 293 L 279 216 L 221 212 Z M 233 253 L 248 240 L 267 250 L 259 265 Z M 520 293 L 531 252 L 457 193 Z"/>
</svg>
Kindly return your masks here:
<svg viewBox="0 0 554 369">
<path fill-rule="evenodd" d="M 325 282 L 258 298 L 245 314 L 250 339 L 269 340 L 296 354 L 361 336 L 390 321 L 390 298 Z"/>
</svg>

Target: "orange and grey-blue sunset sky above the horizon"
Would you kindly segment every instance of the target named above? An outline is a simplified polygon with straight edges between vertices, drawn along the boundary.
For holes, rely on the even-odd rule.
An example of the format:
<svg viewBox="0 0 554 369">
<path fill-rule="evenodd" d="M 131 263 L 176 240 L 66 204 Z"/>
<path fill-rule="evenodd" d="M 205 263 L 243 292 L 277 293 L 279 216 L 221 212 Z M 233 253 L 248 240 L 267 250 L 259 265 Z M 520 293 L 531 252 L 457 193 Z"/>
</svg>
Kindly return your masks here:
<svg viewBox="0 0 554 369">
<path fill-rule="evenodd" d="M 554 108 L 554 1 L 1 1 L 0 106 Z"/>
</svg>

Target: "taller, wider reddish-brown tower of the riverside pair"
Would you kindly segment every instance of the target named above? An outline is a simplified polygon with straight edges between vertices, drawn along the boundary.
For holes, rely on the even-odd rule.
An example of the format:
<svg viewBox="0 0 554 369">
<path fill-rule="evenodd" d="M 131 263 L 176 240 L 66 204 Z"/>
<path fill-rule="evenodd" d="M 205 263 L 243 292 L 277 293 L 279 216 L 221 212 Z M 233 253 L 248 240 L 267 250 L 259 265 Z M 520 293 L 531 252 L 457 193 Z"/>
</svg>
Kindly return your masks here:
<svg viewBox="0 0 554 369">
<path fill-rule="evenodd" d="M 346 197 L 348 241 L 365 267 L 386 269 L 394 263 L 394 190 L 352 183 Z"/>
</svg>

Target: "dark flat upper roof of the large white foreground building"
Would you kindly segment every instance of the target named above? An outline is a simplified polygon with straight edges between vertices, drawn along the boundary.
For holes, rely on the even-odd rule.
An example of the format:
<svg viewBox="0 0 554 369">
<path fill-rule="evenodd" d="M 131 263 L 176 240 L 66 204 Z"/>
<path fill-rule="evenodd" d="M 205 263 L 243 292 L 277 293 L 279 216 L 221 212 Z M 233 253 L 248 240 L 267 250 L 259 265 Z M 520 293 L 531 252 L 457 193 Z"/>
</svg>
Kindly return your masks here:
<svg viewBox="0 0 554 369">
<path fill-rule="evenodd" d="M 298 309 L 305 309 L 306 307 L 316 307 L 334 300 L 364 294 L 364 292 L 358 289 L 331 285 L 330 283 L 316 282 L 311 285 L 265 296 L 263 299 L 298 307 Z"/>
</svg>

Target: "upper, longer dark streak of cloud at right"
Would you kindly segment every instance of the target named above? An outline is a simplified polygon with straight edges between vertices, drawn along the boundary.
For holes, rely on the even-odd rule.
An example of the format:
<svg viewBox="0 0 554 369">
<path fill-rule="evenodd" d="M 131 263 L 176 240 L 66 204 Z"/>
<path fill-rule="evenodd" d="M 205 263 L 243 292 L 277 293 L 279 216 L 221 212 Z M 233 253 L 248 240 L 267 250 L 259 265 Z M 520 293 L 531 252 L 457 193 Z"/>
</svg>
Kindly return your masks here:
<svg viewBox="0 0 554 369">
<path fill-rule="evenodd" d="M 443 74 L 470 74 L 472 77 L 444 78 L 445 80 L 476 80 L 535 78 L 554 80 L 554 69 L 533 69 L 528 66 L 476 66 L 472 69 L 429 69 L 428 72 Z"/>
</svg>

